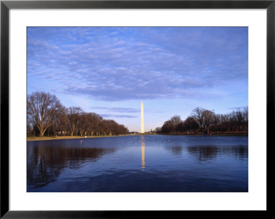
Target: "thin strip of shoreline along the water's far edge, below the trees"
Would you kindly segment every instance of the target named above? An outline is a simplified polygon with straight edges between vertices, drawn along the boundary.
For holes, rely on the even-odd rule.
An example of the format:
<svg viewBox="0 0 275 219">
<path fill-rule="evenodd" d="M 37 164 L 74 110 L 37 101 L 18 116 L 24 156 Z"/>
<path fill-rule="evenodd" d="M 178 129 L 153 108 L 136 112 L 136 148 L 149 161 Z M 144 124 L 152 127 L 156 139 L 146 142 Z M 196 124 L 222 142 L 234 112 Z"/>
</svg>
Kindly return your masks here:
<svg viewBox="0 0 275 219">
<path fill-rule="evenodd" d="M 137 134 L 138 135 L 138 134 Z M 27 137 L 27 141 L 49 141 L 49 140 L 63 140 L 63 139 L 92 139 L 98 137 L 120 137 L 120 136 L 137 136 L 134 134 L 130 135 L 100 135 L 100 136 L 45 136 L 45 137 Z M 144 134 L 144 135 L 159 135 L 159 134 Z M 247 132 L 229 132 L 229 133 L 212 133 L 212 135 L 203 135 L 203 134 L 179 134 L 179 135 L 171 135 L 171 136 L 204 136 L 204 137 L 248 137 Z M 169 135 L 167 135 L 169 136 Z"/>
</svg>

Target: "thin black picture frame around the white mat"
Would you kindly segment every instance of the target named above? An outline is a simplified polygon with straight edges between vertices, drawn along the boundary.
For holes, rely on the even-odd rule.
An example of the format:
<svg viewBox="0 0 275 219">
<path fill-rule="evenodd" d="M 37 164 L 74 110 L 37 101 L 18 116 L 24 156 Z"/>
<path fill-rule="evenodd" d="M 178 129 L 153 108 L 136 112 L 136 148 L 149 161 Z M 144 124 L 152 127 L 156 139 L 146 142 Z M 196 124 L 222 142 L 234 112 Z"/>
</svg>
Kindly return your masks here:
<svg viewBox="0 0 275 219">
<path fill-rule="evenodd" d="M 84 8 L 214 8 L 214 9 L 267 9 L 267 154 L 274 146 L 275 99 L 275 0 L 272 1 L 1 1 L 1 218 L 133 218 L 186 214 L 225 214 L 224 211 L 10 211 L 9 208 L 9 11 L 10 9 L 84 9 Z M 270 159 L 267 157 L 267 173 Z M 269 180 L 267 174 L 267 181 Z M 268 193 L 267 193 L 268 200 Z M 270 203 L 267 202 L 267 211 Z M 226 214 L 240 211 L 227 211 Z M 255 211 L 245 211 L 255 215 Z"/>
</svg>

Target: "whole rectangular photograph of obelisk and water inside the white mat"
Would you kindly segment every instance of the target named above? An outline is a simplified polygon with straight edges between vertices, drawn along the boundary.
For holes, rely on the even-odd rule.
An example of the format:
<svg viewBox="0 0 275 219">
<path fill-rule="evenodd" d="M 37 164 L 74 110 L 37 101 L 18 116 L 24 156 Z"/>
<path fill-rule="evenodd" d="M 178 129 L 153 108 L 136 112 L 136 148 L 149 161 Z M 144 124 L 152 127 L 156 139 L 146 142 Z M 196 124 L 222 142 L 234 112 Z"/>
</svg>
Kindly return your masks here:
<svg viewBox="0 0 275 219">
<path fill-rule="evenodd" d="M 26 34 L 26 192 L 248 193 L 248 26 Z"/>
</svg>

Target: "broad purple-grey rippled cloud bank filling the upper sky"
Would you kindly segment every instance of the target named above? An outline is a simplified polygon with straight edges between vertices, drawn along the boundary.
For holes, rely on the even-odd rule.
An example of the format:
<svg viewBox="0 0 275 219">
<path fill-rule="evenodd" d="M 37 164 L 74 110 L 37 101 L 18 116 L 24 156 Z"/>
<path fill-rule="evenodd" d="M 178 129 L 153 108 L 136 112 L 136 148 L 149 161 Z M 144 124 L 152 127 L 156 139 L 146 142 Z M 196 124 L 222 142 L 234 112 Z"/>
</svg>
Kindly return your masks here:
<svg viewBox="0 0 275 219">
<path fill-rule="evenodd" d="M 247 28 L 28 27 L 28 77 L 94 100 L 225 96 L 248 86 Z"/>
</svg>

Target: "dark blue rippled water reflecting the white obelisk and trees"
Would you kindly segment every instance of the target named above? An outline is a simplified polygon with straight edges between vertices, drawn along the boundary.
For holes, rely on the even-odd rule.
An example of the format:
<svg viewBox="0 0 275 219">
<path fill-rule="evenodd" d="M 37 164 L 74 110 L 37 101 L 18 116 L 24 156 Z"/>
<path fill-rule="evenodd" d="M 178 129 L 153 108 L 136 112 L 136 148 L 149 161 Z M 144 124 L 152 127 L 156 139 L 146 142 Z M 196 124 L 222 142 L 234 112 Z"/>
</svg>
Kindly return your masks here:
<svg viewBox="0 0 275 219">
<path fill-rule="evenodd" d="M 28 141 L 28 192 L 248 192 L 248 137 Z"/>
</svg>

